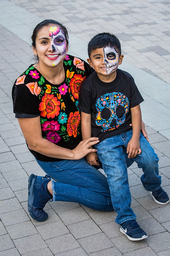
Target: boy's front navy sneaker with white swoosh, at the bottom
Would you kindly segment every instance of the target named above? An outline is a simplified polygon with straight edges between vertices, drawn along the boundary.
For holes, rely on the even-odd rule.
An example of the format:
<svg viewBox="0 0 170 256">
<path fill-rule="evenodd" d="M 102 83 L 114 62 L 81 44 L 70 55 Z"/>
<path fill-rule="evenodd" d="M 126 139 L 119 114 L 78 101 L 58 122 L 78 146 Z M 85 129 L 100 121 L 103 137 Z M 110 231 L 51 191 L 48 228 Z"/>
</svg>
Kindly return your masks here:
<svg viewBox="0 0 170 256">
<path fill-rule="evenodd" d="M 139 241 L 148 237 L 135 219 L 122 223 L 120 231 L 131 241 Z"/>
</svg>

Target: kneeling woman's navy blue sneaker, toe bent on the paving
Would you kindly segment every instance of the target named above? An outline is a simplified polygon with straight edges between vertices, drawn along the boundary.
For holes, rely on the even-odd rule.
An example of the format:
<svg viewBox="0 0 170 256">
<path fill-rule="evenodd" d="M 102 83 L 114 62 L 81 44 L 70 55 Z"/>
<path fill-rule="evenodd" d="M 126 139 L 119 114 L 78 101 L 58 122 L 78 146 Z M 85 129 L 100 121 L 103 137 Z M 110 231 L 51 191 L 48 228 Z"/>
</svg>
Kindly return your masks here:
<svg viewBox="0 0 170 256">
<path fill-rule="evenodd" d="M 28 211 L 37 221 L 44 221 L 48 214 L 43 210 L 48 201 L 53 201 L 47 192 L 47 184 L 51 179 L 31 174 L 28 179 Z"/>
</svg>

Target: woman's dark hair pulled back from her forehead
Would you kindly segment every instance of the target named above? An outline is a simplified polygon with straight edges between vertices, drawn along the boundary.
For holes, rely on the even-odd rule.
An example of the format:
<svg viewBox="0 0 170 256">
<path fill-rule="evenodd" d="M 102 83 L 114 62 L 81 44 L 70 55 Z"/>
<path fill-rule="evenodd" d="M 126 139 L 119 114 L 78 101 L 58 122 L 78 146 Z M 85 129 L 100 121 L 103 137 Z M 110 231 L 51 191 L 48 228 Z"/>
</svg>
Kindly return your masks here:
<svg viewBox="0 0 170 256">
<path fill-rule="evenodd" d="M 68 32 L 67 32 L 67 29 L 66 27 L 63 26 L 62 23 L 58 22 L 58 21 L 54 21 L 54 20 L 45 20 L 45 21 L 42 21 L 40 22 L 36 27 L 35 29 L 33 30 L 33 35 L 31 37 L 32 39 L 32 46 L 35 47 L 35 40 L 37 38 L 37 35 L 38 35 L 38 32 L 43 28 L 43 27 L 46 27 L 46 26 L 50 26 L 50 25 L 55 25 L 57 27 L 60 27 L 64 33 L 64 36 L 65 36 L 65 39 L 66 39 L 66 44 L 67 46 L 69 46 L 69 36 L 68 36 Z"/>
</svg>

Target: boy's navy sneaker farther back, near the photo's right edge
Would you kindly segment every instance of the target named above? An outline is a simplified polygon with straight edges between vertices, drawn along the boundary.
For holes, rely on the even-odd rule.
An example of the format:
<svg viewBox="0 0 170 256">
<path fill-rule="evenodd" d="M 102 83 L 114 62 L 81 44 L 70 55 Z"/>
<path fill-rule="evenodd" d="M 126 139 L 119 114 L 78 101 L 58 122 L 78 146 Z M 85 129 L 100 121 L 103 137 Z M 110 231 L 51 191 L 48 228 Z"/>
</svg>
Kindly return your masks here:
<svg viewBox="0 0 170 256">
<path fill-rule="evenodd" d="M 169 197 L 167 193 L 161 187 L 156 191 L 148 191 L 148 190 L 146 191 L 149 192 L 149 194 L 151 194 L 151 196 L 153 197 L 153 200 L 156 203 L 166 204 L 169 202 Z"/>
</svg>

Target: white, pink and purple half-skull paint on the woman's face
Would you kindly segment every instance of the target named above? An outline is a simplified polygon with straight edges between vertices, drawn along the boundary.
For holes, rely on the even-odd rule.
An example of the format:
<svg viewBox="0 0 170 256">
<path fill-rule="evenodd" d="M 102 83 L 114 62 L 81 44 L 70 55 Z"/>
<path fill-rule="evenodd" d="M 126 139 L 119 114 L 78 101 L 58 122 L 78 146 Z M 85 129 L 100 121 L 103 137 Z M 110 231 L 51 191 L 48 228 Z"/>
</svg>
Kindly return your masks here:
<svg viewBox="0 0 170 256">
<path fill-rule="evenodd" d="M 59 27 L 50 27 L 49 36 L 51 37 L 52 54 L 46 55 L 49 60 L 54 60 L 51 65 L 57 65 L 65 57 L 66 39 L 64 33 Z"/>
</svg>

